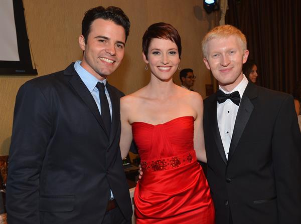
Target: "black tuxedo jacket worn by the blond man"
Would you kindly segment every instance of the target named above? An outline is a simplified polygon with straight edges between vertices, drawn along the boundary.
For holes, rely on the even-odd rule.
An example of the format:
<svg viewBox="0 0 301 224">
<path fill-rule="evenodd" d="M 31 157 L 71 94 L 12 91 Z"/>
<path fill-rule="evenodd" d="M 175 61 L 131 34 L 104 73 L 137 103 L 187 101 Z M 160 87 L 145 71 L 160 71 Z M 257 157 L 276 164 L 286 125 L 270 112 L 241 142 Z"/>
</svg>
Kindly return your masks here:
<svg viewBox="0 0 301 224">
<path fill-rule="evenodd" d="M 301 134 L 293 98 L 249 83 L 228 160 L 217 122 L 216 94 L 204 100 L 207 177 L 216 224 L 301 223 Z"/>
</svg>

